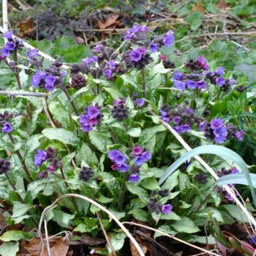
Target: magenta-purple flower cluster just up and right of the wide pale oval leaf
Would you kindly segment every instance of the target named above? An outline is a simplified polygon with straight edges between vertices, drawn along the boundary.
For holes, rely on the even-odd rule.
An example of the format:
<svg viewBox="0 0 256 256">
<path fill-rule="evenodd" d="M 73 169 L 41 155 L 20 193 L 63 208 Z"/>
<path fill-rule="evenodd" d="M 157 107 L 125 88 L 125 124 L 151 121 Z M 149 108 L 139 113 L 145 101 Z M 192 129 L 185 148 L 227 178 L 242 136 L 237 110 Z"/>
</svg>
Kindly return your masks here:
<svg viewBox="0 0 256 256">
<path fill-rule="evenodd" d="M 100 123 L 101 119 L 104 117 L 100 109 L 101 107 L 98 104 L 83 108 L 84 112 L 82 112 L 79 119 L 82 131 L 92 131 L 93 126 Z"/>
</svg>

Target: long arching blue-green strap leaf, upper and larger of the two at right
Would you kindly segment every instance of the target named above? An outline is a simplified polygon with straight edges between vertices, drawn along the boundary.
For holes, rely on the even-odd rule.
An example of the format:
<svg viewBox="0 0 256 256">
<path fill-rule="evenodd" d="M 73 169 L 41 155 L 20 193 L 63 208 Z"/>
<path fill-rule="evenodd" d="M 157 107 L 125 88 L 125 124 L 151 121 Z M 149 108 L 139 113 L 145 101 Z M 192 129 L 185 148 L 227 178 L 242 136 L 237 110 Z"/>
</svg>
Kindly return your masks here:
<svg viewBox="0 0 256 256">
<path fill-rule="evenodd" d="M 193 156 L 200 155 L 200 154 L 218 155 L 221 158 L 232 160 L 235 164 L 237 164 L 237 166 L 241 168 L 241 170 L 243 171 L 243 174 L 247 179 L 247 182 L 250 186 L 251 195 L 253 196 L 254 204 L 256 205 L 256 193 L 255 193 L 253 182 L 251 181 L 249 170 L 247 168 L 245 161 L 243 161 L 241 156 L 238 155 L 236 152 L 222 146 L 205 145 L 205 146 L 196 147 L 193 150 L 185 153 L 183 156 L 177 159 L 170 167 L 167 168 L 167 170 L 164 172 L 163 176 L 159 180 L 159 185 L 161 185 L 164 182 L 164 180 L 166 180 L 167 177 L 172 174 L 172 172 L 174 172 L 177 168 L 179 168 L 181 164 L 183 164 Z"/>
</svg>

